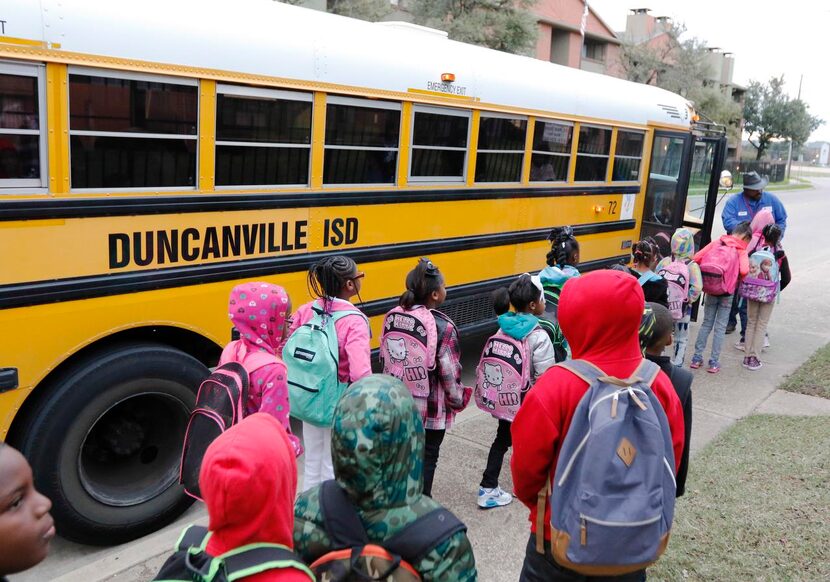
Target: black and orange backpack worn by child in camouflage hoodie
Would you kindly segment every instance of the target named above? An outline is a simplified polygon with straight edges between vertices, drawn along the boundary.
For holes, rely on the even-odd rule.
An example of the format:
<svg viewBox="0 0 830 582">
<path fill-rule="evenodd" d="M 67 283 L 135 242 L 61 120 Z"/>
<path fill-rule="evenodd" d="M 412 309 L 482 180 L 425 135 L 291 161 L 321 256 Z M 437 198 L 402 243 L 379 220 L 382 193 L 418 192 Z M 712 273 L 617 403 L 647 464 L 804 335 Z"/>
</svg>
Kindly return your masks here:
<svg viewBox="0 0 830 582">
<path fill-rule="evenodd" d="M 320 509 L 332 551 L 318 558 L 311 570 L 327 582 L 415 582 L 418 563 L 440 543 L 465 526 L 450 511 L 438 508 L 422 515 L 382 543 L 369 541 L 363 522 L 337 481 L 320 487 Z"/>
</svg>

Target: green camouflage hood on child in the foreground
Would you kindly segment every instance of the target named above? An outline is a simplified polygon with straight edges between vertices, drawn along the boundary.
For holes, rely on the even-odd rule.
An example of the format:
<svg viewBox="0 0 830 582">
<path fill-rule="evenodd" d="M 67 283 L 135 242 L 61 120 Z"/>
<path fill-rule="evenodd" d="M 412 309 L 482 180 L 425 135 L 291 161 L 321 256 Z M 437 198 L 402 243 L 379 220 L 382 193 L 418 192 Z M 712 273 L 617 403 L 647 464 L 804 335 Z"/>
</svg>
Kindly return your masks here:
<svg viewBox="0 0 830 582">
<path fill-rule="evenodd" d="M 411 506 L 422 497 L 424 425 L 397 378 L 372 374 L 346 389 L 331 449 L 335 478 L 360 510 Z"/>
</svg>

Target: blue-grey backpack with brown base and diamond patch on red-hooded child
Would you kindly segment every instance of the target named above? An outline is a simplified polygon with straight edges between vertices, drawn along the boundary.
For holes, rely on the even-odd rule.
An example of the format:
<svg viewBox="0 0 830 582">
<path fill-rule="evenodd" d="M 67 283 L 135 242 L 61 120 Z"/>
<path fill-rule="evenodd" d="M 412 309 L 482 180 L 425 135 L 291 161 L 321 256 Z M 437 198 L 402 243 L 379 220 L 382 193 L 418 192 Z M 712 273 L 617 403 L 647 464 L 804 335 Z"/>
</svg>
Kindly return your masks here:
<svg viewBox="0 0 830 582">
<path fill-rule="evenodd" d="M 626 380 L 584 360 L 557 364 L 588 383 L 551 484 L 551 551 L 587 576 L 642 570 L 666 549 L 675 489 L 671 431 L 643 360 Z"/>
</svg>

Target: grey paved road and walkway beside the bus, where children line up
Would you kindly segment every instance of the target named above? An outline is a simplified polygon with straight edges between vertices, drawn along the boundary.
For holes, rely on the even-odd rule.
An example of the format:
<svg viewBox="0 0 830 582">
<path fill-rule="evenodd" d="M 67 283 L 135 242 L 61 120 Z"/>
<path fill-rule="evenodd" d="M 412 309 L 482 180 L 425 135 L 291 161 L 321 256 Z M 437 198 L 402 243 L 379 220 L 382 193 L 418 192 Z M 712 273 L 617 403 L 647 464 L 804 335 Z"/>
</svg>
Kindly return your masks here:
<svg viewBox="0 0 830 582">
<path fill-rule="evenodd" d="M 830 177 L 811 179 L 816 186 L 812 190 L 777 193 L 790 215 L 784 245 L 790 257 L 793 283 L 772 316 L 770 337 L 773 346 L 764 355 L 764 373 L 753 375 L 740 368 L 742 354 L 732 348 L 736 335 L 727 336 L 721 374 L 711 376 L 700 371 L 696 374 L 693 454 L 736 419 L 755 410 L 786 374 L 816 348 L 830 341 L 830 314 L 825 307 L 825 298 L 830 293 L 830 244 L 826 238 Z M 721 232 L 717 221 L 715 235 Z M 697 331 L 693 329 L 690 339 L 693 341 L 696 335 Z M 473 381 L 472 370 L 481 343 L 482 338 L 466 338 L 462 344 L 467 382 Z M 489 511 L 480 511 L 475 505 L 478 482 L 495 427 L 495 420 L 479 412 L 474 405 L 465 410 L 444 441 L 434 485 L 435 498 L 467 523 L 483 582 L 518 578 L 529 532 L 528 512 L 519 503 Z M 509 453 L 501 485 L 511 490 L 508 467 Z M 694 461 L 690 487 L 694 486 L 693 480 Z M 678 507 L 682 511 L 682 501 Z M 204 520 L 204 511 L 194 507 L 176 524 L 161 532 L 112 548 L 79 546 L 58 538 L 43 564 L 13 576 L 12 580 L 149 580 L 172 547 L 182 524 L 197 520 Z"/>
</svg>

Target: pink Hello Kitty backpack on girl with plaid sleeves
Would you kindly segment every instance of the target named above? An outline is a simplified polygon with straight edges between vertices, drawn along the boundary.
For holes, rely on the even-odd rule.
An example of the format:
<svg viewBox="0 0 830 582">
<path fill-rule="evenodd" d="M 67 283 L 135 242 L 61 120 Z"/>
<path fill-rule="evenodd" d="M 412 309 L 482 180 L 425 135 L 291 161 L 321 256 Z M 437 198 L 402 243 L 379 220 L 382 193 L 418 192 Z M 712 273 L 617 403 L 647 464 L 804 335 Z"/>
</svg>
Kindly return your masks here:
<svg viewBox="0 0 830 582">
<path fill-rule="evenodd" d="M 437 351 L 438 328 L 429 309 L 396 307 L 386 314 L 380 337 L 383 373 L 406 384 L 412 396 L 429 396 L 429 373 L 435 370 Z"/>
</svg>

